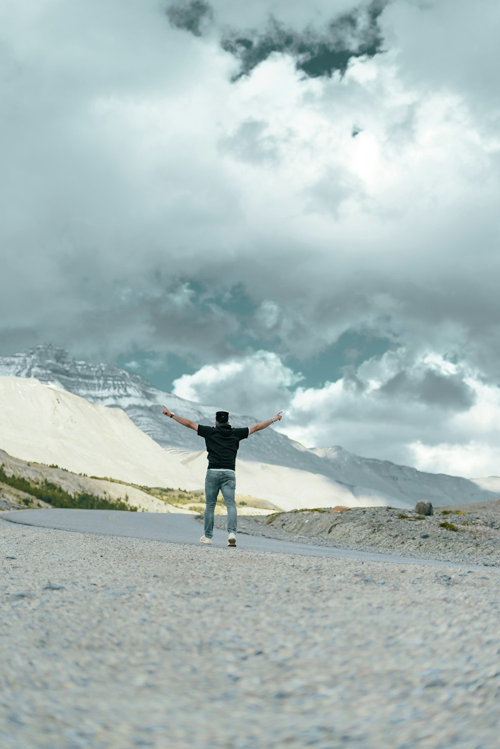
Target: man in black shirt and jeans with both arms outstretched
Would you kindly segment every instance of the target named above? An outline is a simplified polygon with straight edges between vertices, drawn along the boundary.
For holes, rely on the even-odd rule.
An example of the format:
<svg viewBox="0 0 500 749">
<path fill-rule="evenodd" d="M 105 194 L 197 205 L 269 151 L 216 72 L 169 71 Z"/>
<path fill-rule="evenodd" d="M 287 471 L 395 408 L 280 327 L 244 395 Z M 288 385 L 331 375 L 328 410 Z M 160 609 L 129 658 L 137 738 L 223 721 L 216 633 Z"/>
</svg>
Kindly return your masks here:
<svg viewBox="0 0 500 749">
<path fill-rule="evenodd" d="M 274 422 L 281 421 L 281 411 L 274 419 L 258 422 L 252 426 L 234 429 L 229 423 L 228 411 L 217 411 L 216 425 L 204 426 L 195 424 L 191 419 L 183 419 L 163 407 L 165 416 L 170 416 L 178 424 L 194 429 L 198 437 L 204 437 L 208 452 L 208 470 L 205 479 L 205 527 L 201 536 L 202 544 L 211 544 L 213 536 L 213 514 L 216 509 L 219 490 L 222 491 L 225 506 L 228 509 L 228 546 L 236 546 L 237 509 L 234 501 L 236 490 L 236 455 L 241 440 L 246 440 L 254 431 L 265 429 Z"/>
</svg>

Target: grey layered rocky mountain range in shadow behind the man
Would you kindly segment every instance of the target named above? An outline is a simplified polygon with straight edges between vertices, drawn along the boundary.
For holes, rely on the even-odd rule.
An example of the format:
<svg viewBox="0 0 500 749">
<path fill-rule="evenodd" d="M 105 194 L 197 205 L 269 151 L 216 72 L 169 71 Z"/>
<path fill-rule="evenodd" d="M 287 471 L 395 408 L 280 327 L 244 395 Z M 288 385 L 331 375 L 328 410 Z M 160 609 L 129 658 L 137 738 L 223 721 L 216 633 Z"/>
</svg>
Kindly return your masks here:
<svg viewBox="0 0 500 749">
<path fill-rule="evenodd" d="M 64 349 L 52 345 L 40 345 L 22 354 L 0 357 L 1 376 L 36 377 L 42 383 L 54 383 L 88 401 L 122 408 L 141 431 L 162 447 L 189 452 L 191 455 L 186 455 L 186 464 L 192 468 L 196 465 L 196 473 L 199 466 L 206 466 L 204 443 L 192 430 L 166 419 L 162 415 L 162 404 L 166 404 L 174 413 L 205 424 L 213 423 L 217 408 L 224 407 L 223 403 L 203 406 L 177 398 L 157 389 L 144 377 L 106 363 L 88 364 L 75 360 Z M 245 426 L 267 416 L 262 413 L 255 416 L 231 413 L 231 423 Z M 303 472 L 323 476 L 327 479 L 326 483 L 318 491 L 317 502 L 312 506 L 320 506 L 324 502 L 323 488 L 326 491 L 332 481 L 338 487 L 338 491 L 334 492 L 337 503 L 343 494 L 342 503 L 353 505 L 412 506 L 420 499 L 430 499 L 436 505 L 450 505 L 496 499 L 499 496 L 497 485 L 500 484 L 492 483 L 492 479 L 473 481 L 445 474 L 422 473 L 415 468 L 388 461 L 361 458 L 340 447 L 306 449 L 272 428 L 244 440 L 238 457 L 246 466 L 245 470 L 249 470 L 249 476 L 249 461 L 267 464 L 269 479 L 273 471 L 276 473 L 275 482 L 279 482 L 281 473 L 271 467 L 297 470 L 300 476 L 303 476 Z M 307 486 L 304 486 L 307 491 Z M 263 497 L 262 491 L 254 496 Z M 332 503 L 335 503 L 333 494 Z M 307 504 L 311 506 L 309 501 Z"/>
</svg>

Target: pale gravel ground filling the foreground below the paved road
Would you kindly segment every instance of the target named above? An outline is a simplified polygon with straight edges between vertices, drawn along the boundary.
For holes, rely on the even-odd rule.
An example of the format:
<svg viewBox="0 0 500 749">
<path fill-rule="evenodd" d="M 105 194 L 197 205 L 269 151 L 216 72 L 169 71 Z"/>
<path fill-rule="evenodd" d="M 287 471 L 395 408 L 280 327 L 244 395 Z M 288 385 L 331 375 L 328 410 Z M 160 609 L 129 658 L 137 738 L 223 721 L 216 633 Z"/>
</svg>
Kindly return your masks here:
<svg viewBox="0 0 500 749">
<path fill-rule="evenodd" d="M 0 521 L 2 749 L 496 749 L 500 571 Z"/>
</svg>

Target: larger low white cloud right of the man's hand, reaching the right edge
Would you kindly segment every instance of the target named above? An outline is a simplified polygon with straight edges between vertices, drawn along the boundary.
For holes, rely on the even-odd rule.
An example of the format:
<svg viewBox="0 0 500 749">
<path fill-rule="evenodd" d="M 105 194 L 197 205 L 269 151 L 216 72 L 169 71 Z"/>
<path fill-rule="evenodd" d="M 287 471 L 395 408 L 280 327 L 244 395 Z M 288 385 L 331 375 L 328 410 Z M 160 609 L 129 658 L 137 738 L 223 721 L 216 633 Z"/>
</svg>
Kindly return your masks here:
<svg viewBox="0 0 500 749">
<path fill-rule="evenodd" d="M 418 357 L 411 377 L 400 378 L 402 389 L 391 387 L 405 360 L 407 352 L 397 351 L 363 363 L 356 387 L 345 376 L 318 388 L 299 385 L 281 428 L 306 446 L 341 445 L 433 473 L 498 473 L 498 387 L 433 355 Z"/>
</svg>

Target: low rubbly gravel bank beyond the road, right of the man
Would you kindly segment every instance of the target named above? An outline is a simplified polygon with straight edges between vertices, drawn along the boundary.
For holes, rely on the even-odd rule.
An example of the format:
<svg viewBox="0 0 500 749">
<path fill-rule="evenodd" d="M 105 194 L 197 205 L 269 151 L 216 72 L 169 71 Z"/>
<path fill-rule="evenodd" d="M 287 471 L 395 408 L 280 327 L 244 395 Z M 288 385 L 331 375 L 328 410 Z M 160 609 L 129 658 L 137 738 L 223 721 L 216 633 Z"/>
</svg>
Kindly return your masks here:
<svg viewBox="0 0 500 749">
<path fill-rule="evenodd" d="M 397 552 L 414 559 L 500 566 L 500 500 L 439 507 L 434 513 L 424 518 L 385 507 L 278 512 L 267 518 L 238 518 L 238 531 L 302 544 Z M 225 518 L 216 517 L 215 526 L 225 527 Z"/>
</svg>

